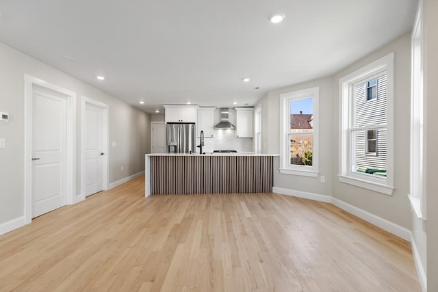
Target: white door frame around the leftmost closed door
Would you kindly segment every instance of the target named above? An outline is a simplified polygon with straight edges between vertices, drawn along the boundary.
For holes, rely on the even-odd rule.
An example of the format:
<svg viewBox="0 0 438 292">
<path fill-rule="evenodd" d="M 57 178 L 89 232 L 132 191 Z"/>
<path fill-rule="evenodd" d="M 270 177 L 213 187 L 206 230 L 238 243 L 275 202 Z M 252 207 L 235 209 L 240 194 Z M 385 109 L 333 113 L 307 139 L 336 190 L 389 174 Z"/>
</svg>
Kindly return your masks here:
<svg viewBox="0 0 438 292">
<path fill-rule="evenodd" d="M 66 90 L 58 85 L 54 85 L 31 75 L 24 75 L 25 81 L 25 182 L 24 182 L 24 218 L 25 224 L 32 221 L 32 151 L 33 151 L 33 96 L 34 86 L 46 88 L 61 94 L 66 98 L 66 122 L 67 122 L 67 179 L 66 179 L 66 204 L 75 204 L 76 196 L 76 93 Z"/>
</svg>

